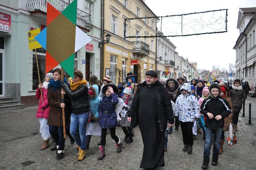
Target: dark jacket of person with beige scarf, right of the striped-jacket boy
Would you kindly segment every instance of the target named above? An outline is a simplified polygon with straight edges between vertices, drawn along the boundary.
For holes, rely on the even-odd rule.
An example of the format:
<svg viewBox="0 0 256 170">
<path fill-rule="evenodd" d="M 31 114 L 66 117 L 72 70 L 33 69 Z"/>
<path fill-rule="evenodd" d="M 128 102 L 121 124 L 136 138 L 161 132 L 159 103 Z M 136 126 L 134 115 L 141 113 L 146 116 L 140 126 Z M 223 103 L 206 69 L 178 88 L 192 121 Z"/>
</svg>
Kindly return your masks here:
<svg viewBox="0 0 256 170">
<path fill-rule="evenodd" d="M 230 98 L 233 106 L 233 111 L 240 112 L 245 102 L 246 94 L 244 89 L 235 90 L 232 86 L 229 88 Z"/>
</svg>

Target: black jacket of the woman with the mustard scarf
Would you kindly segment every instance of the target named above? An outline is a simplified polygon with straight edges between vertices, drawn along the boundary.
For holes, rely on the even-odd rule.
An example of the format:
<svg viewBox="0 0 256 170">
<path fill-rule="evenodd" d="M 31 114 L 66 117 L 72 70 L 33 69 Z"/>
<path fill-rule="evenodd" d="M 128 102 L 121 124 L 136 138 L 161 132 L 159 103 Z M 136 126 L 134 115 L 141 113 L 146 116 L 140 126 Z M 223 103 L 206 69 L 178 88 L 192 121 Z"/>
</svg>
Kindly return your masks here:
<svg viewBox="0 0 256 170">
<path fill-rule="evenodd" d="M 69 86 L 63 82 L 61 83 L 61 87 L 71 100 L 72 113 L 74 115 L 80 115 L 90 111 L 90 101 L 86 85 L 81 85 L 74 91 L 69 89 Z"/>
</svg>

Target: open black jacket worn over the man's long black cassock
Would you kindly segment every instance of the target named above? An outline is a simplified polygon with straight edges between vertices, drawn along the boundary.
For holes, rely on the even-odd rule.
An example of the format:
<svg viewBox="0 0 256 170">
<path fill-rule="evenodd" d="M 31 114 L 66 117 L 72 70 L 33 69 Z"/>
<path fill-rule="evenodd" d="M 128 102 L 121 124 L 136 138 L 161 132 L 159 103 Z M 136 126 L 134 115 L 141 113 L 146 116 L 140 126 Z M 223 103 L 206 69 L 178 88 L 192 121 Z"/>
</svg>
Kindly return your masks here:
<svg viewBox="0 0 256 170">
<path fill-rule="evenodd" d="M 145 87 L 145 85 L 147 85 L 146 81 L 137 85 L 137 92 L 132 100 L 130 111 L 128 112 L 128 117 L 132 118 L 132 128 L 136 127 L 139 124 L 139 93 L 141 92 L 141 89 Z M 167 128 L 167 123 L 174 123 L 173 108 L 171 103 L 171 97 L 167 89 L 165 89 L 165 87 L 158 80 L 156 81 L 156 86 L 158 87 L 156 96 L 158 105 L 152 105 L 152 107 L 157 107 L 159 127 L 160 131 L 163 132 Z"/>
</svg>

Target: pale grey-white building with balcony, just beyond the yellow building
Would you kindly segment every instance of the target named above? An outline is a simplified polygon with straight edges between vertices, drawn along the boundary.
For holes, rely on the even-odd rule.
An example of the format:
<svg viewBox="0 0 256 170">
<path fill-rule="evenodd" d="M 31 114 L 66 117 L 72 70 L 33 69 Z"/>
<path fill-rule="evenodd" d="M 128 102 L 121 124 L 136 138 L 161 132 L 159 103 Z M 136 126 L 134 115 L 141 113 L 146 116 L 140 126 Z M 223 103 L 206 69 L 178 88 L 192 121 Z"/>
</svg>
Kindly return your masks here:
<svg viewBox="0 0 256 170">
<path fill-rule="evenodd" d="M 156 32 L 158 36 L 163 36 L 160 31 Z M 166 37 L 157 37 L 157 67 L 158 77 L 163 77 L 165 70 L 169 71 L 169 76 L 174 78 L 175 73 L 175 49 L 176 46 Z"/>
</svg>

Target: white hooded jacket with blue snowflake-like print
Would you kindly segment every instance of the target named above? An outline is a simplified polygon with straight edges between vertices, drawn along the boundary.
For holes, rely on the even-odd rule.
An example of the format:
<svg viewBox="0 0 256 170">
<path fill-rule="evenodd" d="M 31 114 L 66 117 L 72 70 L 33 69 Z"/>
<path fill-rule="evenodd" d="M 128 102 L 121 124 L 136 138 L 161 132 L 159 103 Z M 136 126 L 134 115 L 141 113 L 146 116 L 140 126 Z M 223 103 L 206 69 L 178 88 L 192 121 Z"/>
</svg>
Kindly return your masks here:
<svg viewBox="0 0 256 170">
<path fill-rule="evenodd" d="M 185 89 L 189 94 L 180 94 L 176 100 L 175 115 L 179 116 L 179 120 L 182 122 L 194 122 L 195 118 L 199 118 L 200 107 L 197 102 L 197 98 L 191 95 L 191 85 L 184 83 L 180 88 L 180 91 Z"/>
</svg>

